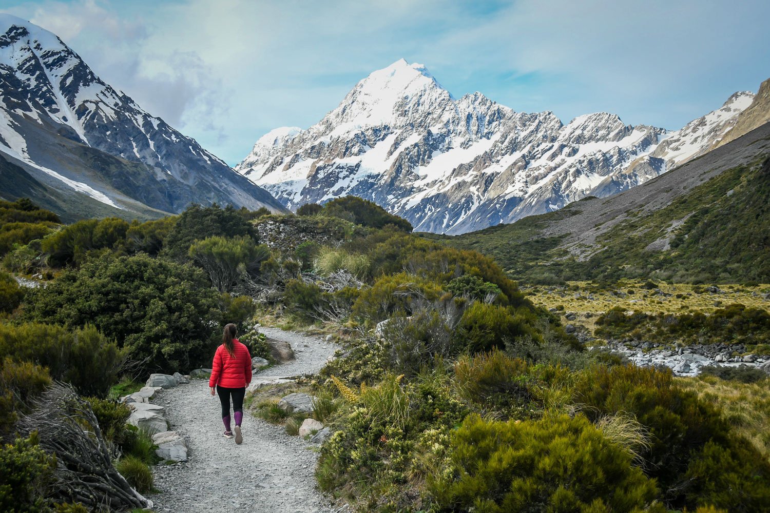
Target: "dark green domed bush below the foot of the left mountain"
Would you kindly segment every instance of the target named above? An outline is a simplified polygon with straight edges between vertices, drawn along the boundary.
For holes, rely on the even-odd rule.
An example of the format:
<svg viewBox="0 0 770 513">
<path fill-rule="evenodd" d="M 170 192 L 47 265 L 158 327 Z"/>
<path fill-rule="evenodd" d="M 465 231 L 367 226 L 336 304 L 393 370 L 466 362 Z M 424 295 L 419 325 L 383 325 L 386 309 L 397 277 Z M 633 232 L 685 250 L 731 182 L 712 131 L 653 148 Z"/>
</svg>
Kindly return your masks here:
<svg viewBox="0 0 770 513">
<path fill-rule="evenodd" d="M 176 224 L 166 235 L 160 254 L 176 261 L 186 261 L 193 242 L 215 236 L 246 236 L 256 241 L 256 230 L 231 205 L 221 208 L 215 203 L 203 208 L 193 203 L 176 218 Z"/>
</svg>

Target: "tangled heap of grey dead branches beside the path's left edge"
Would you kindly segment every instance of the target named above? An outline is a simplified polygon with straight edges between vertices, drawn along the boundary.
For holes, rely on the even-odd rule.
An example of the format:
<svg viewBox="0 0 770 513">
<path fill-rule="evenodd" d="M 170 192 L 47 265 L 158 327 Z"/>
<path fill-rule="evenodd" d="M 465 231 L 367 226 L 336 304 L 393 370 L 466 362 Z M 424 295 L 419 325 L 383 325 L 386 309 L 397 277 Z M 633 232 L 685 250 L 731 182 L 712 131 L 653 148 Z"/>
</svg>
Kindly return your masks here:
<svg viewBox="0 0 770 513">
<path fill-rule="evenodd" d="M 152 508 L 112 465 L 91 405 L 69 385 L 55 383 L 19 423 L 23 432 L 38 431 L 40 447 L 56 455 L 56 495 L 81 502 L 91 511 Z"/>
</svg>

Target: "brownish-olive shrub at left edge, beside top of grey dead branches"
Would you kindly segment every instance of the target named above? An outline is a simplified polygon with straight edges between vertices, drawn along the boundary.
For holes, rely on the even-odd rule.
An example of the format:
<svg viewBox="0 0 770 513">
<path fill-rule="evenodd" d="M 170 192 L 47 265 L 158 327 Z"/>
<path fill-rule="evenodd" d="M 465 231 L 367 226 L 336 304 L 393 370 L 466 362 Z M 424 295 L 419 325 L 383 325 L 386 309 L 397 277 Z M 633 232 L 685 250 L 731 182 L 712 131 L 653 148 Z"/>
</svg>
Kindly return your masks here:
<svg viewBox="0 0 770 513">
<path fill-rule="evenodd" d="M 18 415 L 28 413 L 32 399 L 49 385 L 51 377 L 45 368 L 0 358 L 0 441 L 11 438 Z"/>
</svg>

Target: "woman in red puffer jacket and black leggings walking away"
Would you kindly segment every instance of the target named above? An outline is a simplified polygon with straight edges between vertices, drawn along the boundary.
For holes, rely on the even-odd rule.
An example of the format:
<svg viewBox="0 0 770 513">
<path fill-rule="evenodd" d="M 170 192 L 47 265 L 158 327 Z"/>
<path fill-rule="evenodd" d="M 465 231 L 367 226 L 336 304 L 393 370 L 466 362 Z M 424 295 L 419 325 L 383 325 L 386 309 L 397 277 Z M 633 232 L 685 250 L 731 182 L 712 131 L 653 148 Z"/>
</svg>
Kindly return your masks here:
<svg viewBox="0 0 770 513">
<path fill-rule="evenodd" d="M 246 387 L 251 383 L 251 355 L 249 348 L 236 338 L 237 332 L 236 325 L 225 326 L 222 345 L 216 348 L 214 354 L 209 388 L 211 388 L 211 395 L 214 395 L 216 386 L 216 393 L 219 394 L 226 438 L 233 438 L 233 431 L 230 429 L 230 397 L 233 398 L 236 444 L 240 445 L 243 442 L 240 431 L 241 421 L 243 421 L 243 396 L 246 395 Z"/>
</svg>

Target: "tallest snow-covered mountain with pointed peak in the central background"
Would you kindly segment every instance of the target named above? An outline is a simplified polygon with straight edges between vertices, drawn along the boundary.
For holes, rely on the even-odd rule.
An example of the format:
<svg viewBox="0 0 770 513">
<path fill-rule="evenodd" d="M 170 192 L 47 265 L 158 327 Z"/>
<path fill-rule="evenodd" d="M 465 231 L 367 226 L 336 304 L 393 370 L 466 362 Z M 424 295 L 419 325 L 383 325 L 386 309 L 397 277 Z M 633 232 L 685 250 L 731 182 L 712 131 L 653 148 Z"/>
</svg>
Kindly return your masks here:
<svg viewBox="0 0 770 513">
<path fill-rule="evenodd" d="M 316 125 L 260 138 L 236 171 L 292 209 L 357 195 L 418 231 L 458 234 L 646 182 L 710 147 L 751 98 L 737 93 L 674 133 L 606 112 L 564 125 L 479 92 L 453 98 L 401 59 Z"/>
</svg>

